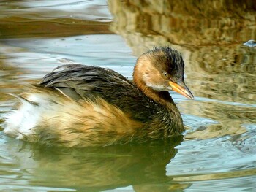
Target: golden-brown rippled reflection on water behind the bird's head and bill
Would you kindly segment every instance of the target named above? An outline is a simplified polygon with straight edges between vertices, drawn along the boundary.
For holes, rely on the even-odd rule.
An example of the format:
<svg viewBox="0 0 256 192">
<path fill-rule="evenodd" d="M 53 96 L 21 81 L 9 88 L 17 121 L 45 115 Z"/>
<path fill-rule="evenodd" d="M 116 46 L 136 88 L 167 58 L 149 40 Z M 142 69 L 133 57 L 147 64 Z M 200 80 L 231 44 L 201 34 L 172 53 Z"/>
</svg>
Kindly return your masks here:
<svg viewBox="0 0 256 192">
<path fill-rule="evenodd" d="M 256 38 L 255 7 L 250 1 L 214 1 L 207 6 L 173 1 L 109 4 L 114 15 L 111 29 L 136 55 L 166 44 L 184 54 L 187 84 L 196 96 L 255 101 L 256 52 L 242 44 Z"/>
</svg>

